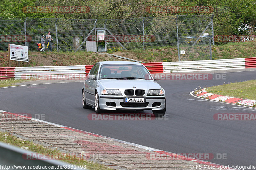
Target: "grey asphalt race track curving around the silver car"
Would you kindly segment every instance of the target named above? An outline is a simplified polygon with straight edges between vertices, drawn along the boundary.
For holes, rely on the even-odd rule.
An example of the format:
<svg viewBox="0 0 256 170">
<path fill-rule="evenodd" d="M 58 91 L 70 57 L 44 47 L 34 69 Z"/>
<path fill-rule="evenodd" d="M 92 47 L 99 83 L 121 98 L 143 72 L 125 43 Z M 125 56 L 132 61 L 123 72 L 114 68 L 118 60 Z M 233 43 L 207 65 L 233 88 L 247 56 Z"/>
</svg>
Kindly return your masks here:
<svg viewBox="0 0 256 170">
<path fill-rule="evenodd" d="M 213 74 L 215 77 L 215 74 Z M 256 109 L 207 101 L 189 93 L 200 86 L 256 79 L 256 71 L 228 72 L 226 80 L 160 80 L 166 92 L 165 120 L 89 120 L 83 109 L 83 82 L 0 89 L 0 109 L 45 114 L 45 121 L 174 153 L 212 153 L 221 165 L 255 165 L 256 131 L 252 120 L 214 120 L 216 113 L 254 113 Z M 106 113 L 148 113 L 114 111 Z M 38 117 L 36 117 L 38 118 Z M 217 154 L 218 153 L 218 154 Z M 224 156 L 224 159 L 218 158 Z M 220 156 L 221 155 L 221 156 Z"/>
</svg>

